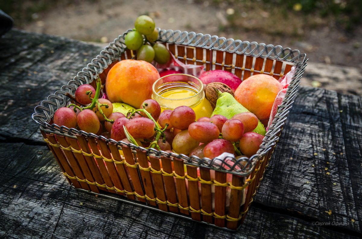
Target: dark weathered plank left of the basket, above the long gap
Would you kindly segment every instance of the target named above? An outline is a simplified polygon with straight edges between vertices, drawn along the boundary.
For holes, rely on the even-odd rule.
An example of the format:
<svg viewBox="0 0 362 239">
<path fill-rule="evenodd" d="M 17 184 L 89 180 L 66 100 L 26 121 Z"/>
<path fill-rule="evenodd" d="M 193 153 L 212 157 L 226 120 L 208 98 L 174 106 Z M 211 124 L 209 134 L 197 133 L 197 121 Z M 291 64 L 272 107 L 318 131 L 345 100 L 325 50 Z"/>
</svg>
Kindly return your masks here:
<svg viewBox="0 0 362 239">
<path fill-rule="evenodd" d="M 3 35 L 0 137 L 42 142 L 31 119 L 34 107 L 73 79 L 101 50 L 96 45 L 58 36 L 18 30 Z"/>
</svg>

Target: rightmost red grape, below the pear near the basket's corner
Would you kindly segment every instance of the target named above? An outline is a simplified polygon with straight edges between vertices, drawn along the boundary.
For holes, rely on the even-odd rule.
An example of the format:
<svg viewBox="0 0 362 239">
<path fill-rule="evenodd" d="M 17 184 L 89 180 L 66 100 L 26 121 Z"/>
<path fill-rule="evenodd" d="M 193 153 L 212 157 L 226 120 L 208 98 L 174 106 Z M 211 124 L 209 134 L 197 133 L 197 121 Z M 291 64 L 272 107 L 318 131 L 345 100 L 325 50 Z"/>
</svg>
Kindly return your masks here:
<svg viewBox="0 0 362 239">
<path fill-rule="evenodd" d="M 251 157 L 256 154 L 260 148 L 260 144 L 263 142 L 264 136 L 255 132 L 247 132 L 243 135 L 243 138 L 240 139 L 239 148 L 240 151 Z"/>
</svg>

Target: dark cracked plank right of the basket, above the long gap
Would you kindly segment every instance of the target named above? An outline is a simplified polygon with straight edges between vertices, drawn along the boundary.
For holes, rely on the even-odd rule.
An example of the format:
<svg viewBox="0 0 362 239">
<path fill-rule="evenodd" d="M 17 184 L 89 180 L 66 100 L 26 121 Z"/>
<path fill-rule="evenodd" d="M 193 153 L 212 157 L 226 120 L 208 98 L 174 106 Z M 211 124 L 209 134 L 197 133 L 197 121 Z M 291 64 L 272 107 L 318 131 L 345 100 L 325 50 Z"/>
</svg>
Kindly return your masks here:
<svg viewBox="0 0 362 239">
<path fill-rule="evenodd" d="M 361 231 L 361 107 L 360 97 L 301 87 L 255 201 Z"/>
</svg>

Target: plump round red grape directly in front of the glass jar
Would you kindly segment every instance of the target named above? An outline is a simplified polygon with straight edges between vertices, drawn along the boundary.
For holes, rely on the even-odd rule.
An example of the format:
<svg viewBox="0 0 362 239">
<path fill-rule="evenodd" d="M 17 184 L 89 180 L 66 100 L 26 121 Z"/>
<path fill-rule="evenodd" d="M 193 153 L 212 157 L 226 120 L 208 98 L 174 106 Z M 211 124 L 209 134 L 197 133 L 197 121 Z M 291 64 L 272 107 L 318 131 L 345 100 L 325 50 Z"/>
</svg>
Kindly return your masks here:
<svg viewBox="0 0 362 239">
<path fill-rule="evenodd" d="M 195 122 L 195 119 L 196 114 L 194 110 L 185 105 L 176 107 L 170 115 L 171 125 L 180 130 L 188 129 L 189 125 Z"/>
</svg>

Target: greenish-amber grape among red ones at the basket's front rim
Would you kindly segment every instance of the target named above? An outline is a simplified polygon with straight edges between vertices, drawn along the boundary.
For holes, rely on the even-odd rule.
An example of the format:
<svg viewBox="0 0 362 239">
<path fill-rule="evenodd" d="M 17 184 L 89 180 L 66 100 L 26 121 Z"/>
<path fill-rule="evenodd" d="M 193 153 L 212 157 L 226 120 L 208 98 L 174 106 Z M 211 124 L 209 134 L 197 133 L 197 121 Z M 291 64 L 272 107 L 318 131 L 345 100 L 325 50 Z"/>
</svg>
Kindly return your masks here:
<svg viewBox="0 0 362 239">
<path fill-rule="evenodd" d="M 172 149 L 176 153 L 183 153 L 188 155 L 200 143 L 193 139 L 188 130 L 179 132 L 172 141 Z"/>
</svg>

